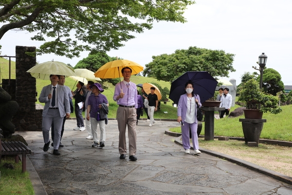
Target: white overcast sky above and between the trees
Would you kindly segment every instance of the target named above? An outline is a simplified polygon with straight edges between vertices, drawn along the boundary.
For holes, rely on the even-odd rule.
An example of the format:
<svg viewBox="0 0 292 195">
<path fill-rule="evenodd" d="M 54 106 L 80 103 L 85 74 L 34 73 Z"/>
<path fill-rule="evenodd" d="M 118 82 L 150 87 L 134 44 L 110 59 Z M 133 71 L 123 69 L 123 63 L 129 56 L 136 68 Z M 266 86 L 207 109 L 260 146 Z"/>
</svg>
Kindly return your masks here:
<svg viewBox="0 0 292 195">
<path fill-rule="evenodd" d="M 292 1 L 291 0 L 197 0 L 185 11 L 186 23 L 159 22 L 153 29 L 137 34 L 119 50 L 108 52 L 145 66 L 152 56 L 172 54 L 177 49 L 190 46 L 224 50 L 235 54 L 233 67 L 236 72 L 230 78 L 240 83 L 244 72 L 254 72 L 258 56 L 267 56 L 267 68 L 273 68 L 282 76 L 285 85 L 292 85 Z M 36 46 L 37 41 L 23 32 L 7 32 L 0 40 L 1 55 L 15 56 L 15 46 Z M 62 61 L 74 66 L 86 58 L 67 59 L 54 54 L 37 56 L 38 62 Z"/>
</svg>

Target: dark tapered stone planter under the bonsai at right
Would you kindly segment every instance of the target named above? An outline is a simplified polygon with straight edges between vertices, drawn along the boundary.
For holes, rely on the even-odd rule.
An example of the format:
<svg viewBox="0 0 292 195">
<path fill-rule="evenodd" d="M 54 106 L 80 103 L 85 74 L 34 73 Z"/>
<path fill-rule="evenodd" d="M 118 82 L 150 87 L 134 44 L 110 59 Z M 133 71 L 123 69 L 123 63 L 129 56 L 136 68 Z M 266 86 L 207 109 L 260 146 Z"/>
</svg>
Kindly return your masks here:
<svg viewBox="0 0 292 195">
<path fill-rule="evenodd" d="M 239 122 L 242 122 L 242 130 L 244 135 L 244 142 L 256 142 L 258 146 L 259 137 L 264 126 L 266 119 L 246 119 L 239 118 Z"/>
</svg>

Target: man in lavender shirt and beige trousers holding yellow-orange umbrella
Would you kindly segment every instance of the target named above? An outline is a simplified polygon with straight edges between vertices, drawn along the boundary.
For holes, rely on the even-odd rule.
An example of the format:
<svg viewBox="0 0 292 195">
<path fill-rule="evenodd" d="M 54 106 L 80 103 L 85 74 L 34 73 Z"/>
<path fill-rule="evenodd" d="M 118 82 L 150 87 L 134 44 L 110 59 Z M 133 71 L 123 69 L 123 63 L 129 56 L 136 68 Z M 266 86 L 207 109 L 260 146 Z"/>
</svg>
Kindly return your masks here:
<svg viewBox="0 0 292 195">
<path fill-rule="evenodd" d="M 136 155 L 136 121 L 137 114 L 137 87 L 130 81 L 132 69 L 122 69 L 124 80 L 117 83 L 114 90 L 113 100 L 119 105 L 117 121 L 119 128 L 119 153 L 120 159 L 125 159 L 127 154 L 126 127 L 128 125 L 129 159 L 137 160 Z"/>
</svg>

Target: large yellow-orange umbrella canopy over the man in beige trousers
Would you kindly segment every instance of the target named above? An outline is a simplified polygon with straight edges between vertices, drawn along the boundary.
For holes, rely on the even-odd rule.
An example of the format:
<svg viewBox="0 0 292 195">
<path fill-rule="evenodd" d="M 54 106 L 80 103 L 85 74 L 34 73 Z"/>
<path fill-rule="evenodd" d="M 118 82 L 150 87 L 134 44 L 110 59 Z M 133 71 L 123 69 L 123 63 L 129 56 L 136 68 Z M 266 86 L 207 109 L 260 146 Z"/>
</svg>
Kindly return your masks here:
<svg viewBox="0 0 292 195">
<path fill-rule="evenodd" d="M 94 76 L 98 78 L 121 78 L 122 77 L 122 68 L 129 67 L 132 69 L 131 75 L 136 75 L 143 71 L 143 66 L 137 64 L 136 62 L 129 61 L 127 59 L 117 59 L 110 61 L 100 67 L 95 73 Z"/>
</svg>

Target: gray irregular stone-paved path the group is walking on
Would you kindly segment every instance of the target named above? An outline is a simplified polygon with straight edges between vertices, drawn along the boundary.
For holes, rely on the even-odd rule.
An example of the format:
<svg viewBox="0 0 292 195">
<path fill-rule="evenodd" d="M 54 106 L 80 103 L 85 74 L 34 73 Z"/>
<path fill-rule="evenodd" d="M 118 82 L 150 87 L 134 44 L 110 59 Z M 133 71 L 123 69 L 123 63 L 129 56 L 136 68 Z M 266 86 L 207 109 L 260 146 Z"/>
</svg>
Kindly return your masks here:
<svg viewBox="0 0 292 195">
<path fill-rule="evenodd" d="M 165 135 L 175 121 L 137 126 L 137 161 L 119 159 L 116 120 L 106 125 L 104 148 L 92 148 L 87 132 L 67 120 L 60 156 L 43 152 L 42 132 L 16 132 L 35 152 L 29 156 L 46 192 L 36 195 L 291 195 L 292 185 L 206 153 L 188 155 Z M 128 139 L 127 139 L 128 143 Z M 203 149 L 202 149 L 203 151 Z M 232 157 L 232 156 L 231 156 Z M 33 169 L 30 169 L 33 172 Z M 32 174 L 35 175 L 35 174 Z"/>
</svg>

